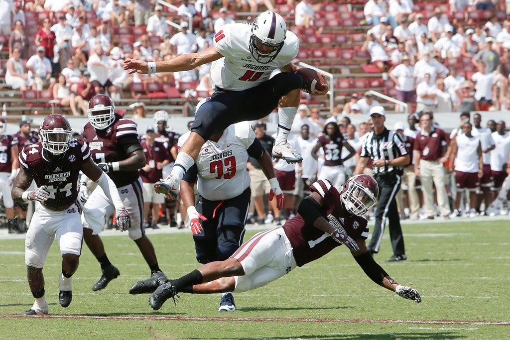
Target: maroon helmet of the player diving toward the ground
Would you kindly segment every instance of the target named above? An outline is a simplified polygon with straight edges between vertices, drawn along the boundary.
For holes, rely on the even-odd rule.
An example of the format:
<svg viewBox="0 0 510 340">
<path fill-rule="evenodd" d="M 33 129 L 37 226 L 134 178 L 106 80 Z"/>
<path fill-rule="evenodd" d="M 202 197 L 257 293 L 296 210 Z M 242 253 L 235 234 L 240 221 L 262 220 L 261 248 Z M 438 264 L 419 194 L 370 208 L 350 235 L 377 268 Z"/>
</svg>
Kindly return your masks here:
<svg viewBox="0 0 510 340">
<path fill-rule="evenodd" d="M 355 175 L 344 185 L 340 199 L 352 215 L 363 216 L 375 205 L 379 196 L 379 186 L 370 175 Z"/>
</svg>

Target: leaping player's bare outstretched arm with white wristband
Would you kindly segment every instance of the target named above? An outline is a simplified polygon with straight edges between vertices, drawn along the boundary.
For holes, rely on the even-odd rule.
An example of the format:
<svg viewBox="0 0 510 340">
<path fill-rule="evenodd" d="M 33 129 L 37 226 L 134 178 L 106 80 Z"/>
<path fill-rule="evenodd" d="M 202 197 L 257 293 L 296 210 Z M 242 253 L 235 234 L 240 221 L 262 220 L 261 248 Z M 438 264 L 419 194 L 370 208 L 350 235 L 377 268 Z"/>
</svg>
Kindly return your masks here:
<svg viewBox="0 0 510 340">
<path fill-rule="evenodd" d="M 211 63 L 223 56 L 215 46 L 211 46 L 197 53 L 188 53 L 170 60 L 159 62 L 145 62 L 137 59 L 124 60 L 124 70 L 129 73 L 151 74 L 156 72 L 188 71 L 203 64 Z"/>
</svg>

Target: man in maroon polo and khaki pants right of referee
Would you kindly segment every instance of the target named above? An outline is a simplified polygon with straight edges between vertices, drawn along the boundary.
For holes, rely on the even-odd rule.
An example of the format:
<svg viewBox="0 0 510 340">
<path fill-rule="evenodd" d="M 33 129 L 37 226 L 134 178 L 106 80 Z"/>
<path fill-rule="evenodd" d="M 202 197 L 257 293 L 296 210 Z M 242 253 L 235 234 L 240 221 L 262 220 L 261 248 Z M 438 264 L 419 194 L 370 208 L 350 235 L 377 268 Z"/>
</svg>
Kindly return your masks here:
<svg viewBox="0 0 510 340">
<path fill-rule="evenodd" d="M 429 113 L 420 117 L 421 131 L 414 143 L 415 173 L 421 180 L 426 218 L 430 220 L 436 215 L 432 182 L 436 186 L 441 215 L 449 218 L 451 213 L 444 169 L 444 163 L 450 158 L 450 138 L 442 129 L 432 126 L 432 119 Z"/>
</svg>

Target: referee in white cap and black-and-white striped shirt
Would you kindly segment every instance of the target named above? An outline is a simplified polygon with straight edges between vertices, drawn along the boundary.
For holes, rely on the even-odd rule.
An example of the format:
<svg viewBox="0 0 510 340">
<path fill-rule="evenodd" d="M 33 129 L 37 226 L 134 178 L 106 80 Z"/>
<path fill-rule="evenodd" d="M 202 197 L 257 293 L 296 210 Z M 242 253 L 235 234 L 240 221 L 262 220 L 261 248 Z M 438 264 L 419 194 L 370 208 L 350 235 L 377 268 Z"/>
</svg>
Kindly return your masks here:
<svg viewBox="0 0 510 340">
<path fill-rule="evenodd" d="M 373 160 L 373 174 L 379 185 L 379 201 L 375 208 L 375 225 L 368 251 L 371 254 L 379 252 L 386 219 L 388 219 L 393 256 L 386 261 L 403 261 L 407 257 L 405 256 L 404 237 L 402 236 L 395 197 L 400 189 L 402 167 L 409 164 L 409 154 L 405 150 L 400 135 L 388 130 L 384 125 L 386 112 L 383 107 L 375 106 L 370 109 L 370 117 L 374 130 L 368 134 L 363 142 L 361 158 L 355 170 L 356 174 L 363 173 L 368 159 L 371 158 Z"/>
</svg>

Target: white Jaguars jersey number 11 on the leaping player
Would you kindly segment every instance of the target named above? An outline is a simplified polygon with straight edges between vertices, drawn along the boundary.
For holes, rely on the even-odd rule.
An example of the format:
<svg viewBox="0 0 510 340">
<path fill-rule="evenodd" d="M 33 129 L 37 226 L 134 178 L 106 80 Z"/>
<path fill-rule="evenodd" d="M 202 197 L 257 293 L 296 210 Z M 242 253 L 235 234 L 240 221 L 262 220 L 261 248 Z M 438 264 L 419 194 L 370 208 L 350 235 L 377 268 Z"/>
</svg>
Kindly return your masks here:
<svg viewBox="0 0 510 340">
<path fill-rule="evenodd" d="M 214 35 L 214 46 L 224 57 L 213 62 L 211 79 L 225 90 L 240 91 L 252 88 L 269 79 L 271 72 L 282 68 L 296 58 L 299 39 L 287 31 L 285 42 L 276 58 L 267 63 L 259 63 L 249 50 L 251 24 L 229 23 L 223 25 Z"/>
</svg>

